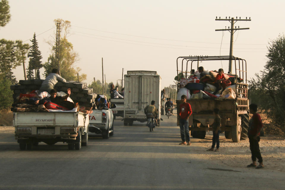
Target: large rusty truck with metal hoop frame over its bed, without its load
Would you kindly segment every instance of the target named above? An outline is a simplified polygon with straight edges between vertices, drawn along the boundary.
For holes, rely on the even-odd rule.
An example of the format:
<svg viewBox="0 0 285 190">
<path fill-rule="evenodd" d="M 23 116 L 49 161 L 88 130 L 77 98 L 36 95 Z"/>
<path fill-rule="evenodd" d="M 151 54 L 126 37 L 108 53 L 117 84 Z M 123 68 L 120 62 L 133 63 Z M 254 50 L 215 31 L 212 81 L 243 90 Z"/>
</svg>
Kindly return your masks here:
<svg viewBox="0 0 285 190">
<path fill-rule="evenodd" d="M 188 64 L 191 63 L 191 70 L 194 62 L 198 61 L 221 61 L 232 60 L 235 64 L 236 81 L 239 77 L 243 79 L 241 82 L 235 84 L 235 99 L 189 99 L 187 102 L 191 105 L 192 114 L 189 117 L 189 131 L 192 137 L 205 138 L 206 131 L 213 131 L 211 125 L 214 122 L 213 110 L 218 108 L 221 116 L 221 131 L 225 132 L 227 139 L 232 139 L 233 142 L 239 142 L 240 139 L 244 140 L 247 137 L 249 111 L 248 111 L 248 84 L 247 84 L 247 71 L 246 60 L 234 56 L 186 56 L 178 57 L 177 64 L 177 77 L 178 77 L 178 60 L 181 61 L 181 71 L 183 71 L 183 63 L 186 62 L 186 76 Z M 199 62 L 198 62 L 199 63 Z M 198 68 L 198 66 L 197 66 Z M 178 81 L 179 91 L 179 81 Z M 182 103 L 181 100 L 176 100 L 177 109 Z M 179 119 L 177 116 L 177 125 Z"/>
</svg>

